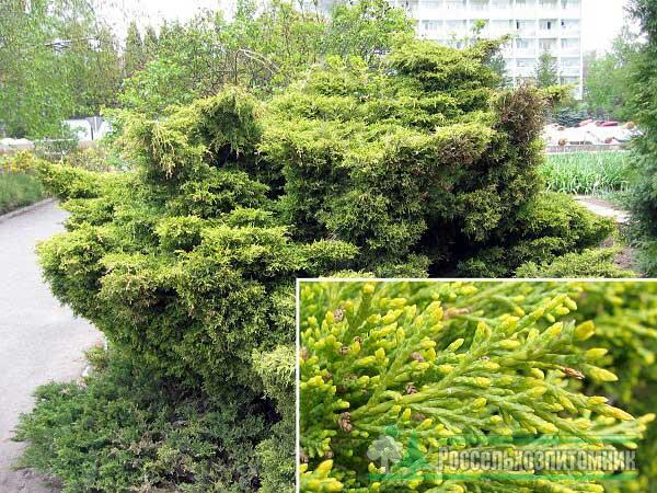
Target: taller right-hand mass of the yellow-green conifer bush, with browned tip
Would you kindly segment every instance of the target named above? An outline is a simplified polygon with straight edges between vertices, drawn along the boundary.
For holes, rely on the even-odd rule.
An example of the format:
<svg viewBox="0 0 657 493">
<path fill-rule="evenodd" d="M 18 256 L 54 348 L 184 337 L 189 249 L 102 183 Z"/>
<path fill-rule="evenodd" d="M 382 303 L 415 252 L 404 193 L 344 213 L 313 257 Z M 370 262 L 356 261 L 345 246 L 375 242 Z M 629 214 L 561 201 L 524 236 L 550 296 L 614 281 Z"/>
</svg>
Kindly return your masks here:
<svg viewBox="0 0 657 493">
<path fill-rule="evenodd" d="M 413 42 L 380 70 L 332 59 L 275 98 L 261 150 L 280 167 L 297 237 L 356 244 L 359 267 L 384 276 L 443 275 L 488 249 L 527 251 L 498 262 L 495 274 L 508 276 L 608 234 L 611 225 L 572 199 L 540 194 L 544 98 L 529 87 L 499 92 L 486 66 L 495 49 Z M 579 219 L 586 234 L 535 250 Z"/>
</svg>

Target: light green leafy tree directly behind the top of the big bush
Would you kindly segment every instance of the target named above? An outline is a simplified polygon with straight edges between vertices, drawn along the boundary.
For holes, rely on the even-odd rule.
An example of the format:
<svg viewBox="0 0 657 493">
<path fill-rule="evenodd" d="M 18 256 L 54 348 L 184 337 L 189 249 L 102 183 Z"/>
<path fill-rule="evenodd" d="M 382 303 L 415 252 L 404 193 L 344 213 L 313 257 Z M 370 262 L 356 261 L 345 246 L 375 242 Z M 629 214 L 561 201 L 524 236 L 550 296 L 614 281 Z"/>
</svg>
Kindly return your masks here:
<svg viewBox="0 0 657 493">
<path fill-rule="evenodd" d="M 285 1 L 263 9 L 241 1 L 227 23 L 206 12 L 162 27 L 158 55 L 126 81 L 122 102 L 153 114 L 216 94 L 227 84 L 272 92 L 331 55 L 377 62 L 412 26 L 383 0 L 337 5 L 326 18 Z"/>
</svg>

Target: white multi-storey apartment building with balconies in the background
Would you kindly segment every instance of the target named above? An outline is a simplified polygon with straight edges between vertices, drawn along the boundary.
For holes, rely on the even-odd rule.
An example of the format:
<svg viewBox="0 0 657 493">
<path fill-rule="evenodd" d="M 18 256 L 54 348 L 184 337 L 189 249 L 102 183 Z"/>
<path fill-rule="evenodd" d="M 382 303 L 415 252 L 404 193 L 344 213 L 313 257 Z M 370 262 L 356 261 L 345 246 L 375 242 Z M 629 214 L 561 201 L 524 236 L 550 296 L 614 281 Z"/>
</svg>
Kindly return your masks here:
<svg viewBox="0 0 657 493">
<path fill-rule="evenodd" d="M 426 39 L 462 47 L 476 21 L 483 35 L 512 36 L 504 47 L 507 71 L 515 83 L 531 79 L 540 55 L 557 60 L 562 83 L 583 94 L 581 0 L 391 0 L 417 21 Z"/>
</svg>

